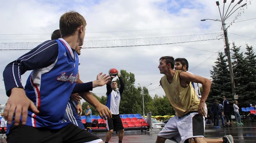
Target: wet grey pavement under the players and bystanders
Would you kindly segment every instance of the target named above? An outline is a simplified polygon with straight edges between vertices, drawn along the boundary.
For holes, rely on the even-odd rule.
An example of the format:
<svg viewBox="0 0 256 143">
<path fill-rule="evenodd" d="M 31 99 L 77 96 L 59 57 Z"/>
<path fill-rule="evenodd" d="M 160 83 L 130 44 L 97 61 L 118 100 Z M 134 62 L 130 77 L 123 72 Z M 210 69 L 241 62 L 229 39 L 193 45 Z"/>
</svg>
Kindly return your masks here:
<svg viewBox="0 0 256 143">
<path fill-rule="evenodd" d="M 125 131 L 123 137 L 123 143 L 155 143 L 157 138 L 157 133 L 159 129 L 154 129 L 147 133 L 147 131 Z M 205 137 L 206 138 L 222 138 L 225 135 L 231 134 L 234 138 L 234 143 L 256 143 L 256 122 L 246 122 L 244 125 L 233 124 L 232 127 L 213 129 L 212 124 L 205 125 Z M 106 132 L 104 133 L 94 133 L 94 135 L 100 137 L 105 141 Z M 1 138 L 0 143 L 7 143 L 6 138 Z M 109 143 L 118 143 L 118 134 L 115 132 L 112 135 Z M 167 140 L 165 143 L 174 143 L 173 141 Z"/>
</svg>

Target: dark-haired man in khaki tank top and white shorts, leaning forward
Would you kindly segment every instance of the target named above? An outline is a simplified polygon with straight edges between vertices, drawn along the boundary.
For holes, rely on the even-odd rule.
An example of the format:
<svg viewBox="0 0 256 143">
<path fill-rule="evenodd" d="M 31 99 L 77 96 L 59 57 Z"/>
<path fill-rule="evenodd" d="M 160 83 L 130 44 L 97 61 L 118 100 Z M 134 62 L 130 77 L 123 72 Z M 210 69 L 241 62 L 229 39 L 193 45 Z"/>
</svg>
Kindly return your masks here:
<svg viewBox="0 0 256 143">
<path fill-rule="evenodd" d="M 157 136 L 156 143 L 170 139 L 179 143 L 207 143 L 204 138 L 204 108 L 212 82 L 204 77 L 174 70 L 174 58 L 163 56 L 159 59 L 160 73 L 164 76 L 160 84 L 164 89 L 176 116 L 172 117 Z M 191 82 L 203 85 L 203 94 L 199 100 Z M 232 136 L 226 136 L 224 143 L 234 143 Z"/>
</svg>

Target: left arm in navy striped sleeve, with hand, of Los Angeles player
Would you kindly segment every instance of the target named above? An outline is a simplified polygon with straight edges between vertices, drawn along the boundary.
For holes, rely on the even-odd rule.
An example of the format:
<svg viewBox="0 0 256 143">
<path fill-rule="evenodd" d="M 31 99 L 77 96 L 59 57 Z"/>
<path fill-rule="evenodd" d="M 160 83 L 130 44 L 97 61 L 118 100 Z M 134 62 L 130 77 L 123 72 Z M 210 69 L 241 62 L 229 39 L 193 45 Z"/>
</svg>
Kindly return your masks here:
<svg viewBox="0 0 256 143">
<path fill-rule="evenodd" d="M 9 96 L 4 113 L 7 124 L 12 123 L 14 113 L 14 125 L 19 125 L 21 114 L 22 124 L 26 124 L 28 108 L 31 108 L 35 114 L 39 113 L 34 103 L 25 94 L 21 75 L 27 70 L 46 68 L 53 64 L 57 57 L 58 43 L 48 40 L 5 67 L 3 78 L 6 94 Z"/>
</svg>

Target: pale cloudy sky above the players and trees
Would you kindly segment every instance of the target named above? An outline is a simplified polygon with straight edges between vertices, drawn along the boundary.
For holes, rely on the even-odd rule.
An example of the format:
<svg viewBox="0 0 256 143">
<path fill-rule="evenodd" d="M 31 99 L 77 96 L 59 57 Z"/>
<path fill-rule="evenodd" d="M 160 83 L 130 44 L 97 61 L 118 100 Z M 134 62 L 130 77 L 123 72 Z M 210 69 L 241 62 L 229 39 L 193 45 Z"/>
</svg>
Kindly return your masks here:
<svg viewBox="0 0 256 143">
<path fill-rule="evenodd" d="M 33 45 L 34 42 L 49 40 L 53 30 L 59 28 L 60 16 L 67 11 L 75 10 L 82 14 L 87 21 L 84 48 L 115 46 L 115 44 L 118 46 L 151 45 L 82 49 L 82 54 L 79 57 L 81 63 L 79 71 L 82 81 L 95 80 L 98 73 L 107 73 L 110 68 L 124 69 L 135 74 L 136 86 L 138 83 L 143 86 L 152 83 L 147 87 L 150 90 L 150 95 L 162 96 L 164 91 L 159 88 L 159 80 L 163 75 L 159 73 L 157 68 L 161 56 L 184 57 L 188 59 L 189 70 L 192 73 L 210 78 L 209 70 L 212 70 L 217 58 L 215 52 L 223 51 L 224 42 L 223 39 L 208 39 L 216 38 L 216 34 L 212 33 L 221 33 L 221 23 L 218 21 L 200 21 L 200 19 L 220 19 L 215 1 L 2 1 L 0 5 L 0 73 L 3 72 L 8 63 L 28 52 L 27 50 L 2 50 L 6 49 L 5 44 L 2 43 L 26 43 L 11 46 L 12 49 L 24 49 Z M 227 0 L 225 11 L 230 1 Z M 246 43 L 256 46 L 256 19 L 254 19 L 256 18 L 254 15 L 256 9 L 253 8 L 256 7 L 256 2 L 244 0 L 240 5 L 250 1 L 251 5 L 248 5 L 247 8 L 245 6 L 235 20 L 237 23 L 233 23 L 228 28 L 229 42 L 234 41 L 237 45 L 242 45 L 242 51 L 245 51 Z M 237 2 L 238 0 L 235 0 L 230 9 Z M 222 12 L 222 1 L 220 1 L 220 9 Z M 237 12 L 234 12 L 226 20 L 226 23 L 232 22 Z M 221 36 L 217 38 L 221 38 Z M 188 42 L 197 40 L 207 41 Z M 156 45 L 173 42 L 179 43 Z M 30 71 L 22 75 L 23 84 L 29 73 Z M 7 96 L 5 95 L 2 74 L 0 74 L 0 79 L 0 104 L 4 104 L 7 101 Z M 102 96 L 106 93 L 106 87 L 95 88 L 93 92 Z"/>
</svg>

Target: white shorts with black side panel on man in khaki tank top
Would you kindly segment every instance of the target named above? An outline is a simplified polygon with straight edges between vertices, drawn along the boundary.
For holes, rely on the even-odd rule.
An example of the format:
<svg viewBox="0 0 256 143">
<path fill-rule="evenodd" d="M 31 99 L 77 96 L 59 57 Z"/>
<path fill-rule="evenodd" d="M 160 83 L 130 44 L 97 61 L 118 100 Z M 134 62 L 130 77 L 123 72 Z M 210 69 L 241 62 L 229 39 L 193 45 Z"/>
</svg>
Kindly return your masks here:
<svg viewBox="0 0 256 143">
<path fill-rule="evenodd" d="M 167 138 L 177 143 L 188 143 L 189 138 L 203 137 L 205 134 L 205 117 L 198 113 L 188 113 L 184 116 L 174 116 L 165 124 L 157 136 Z"/>
</svg>

